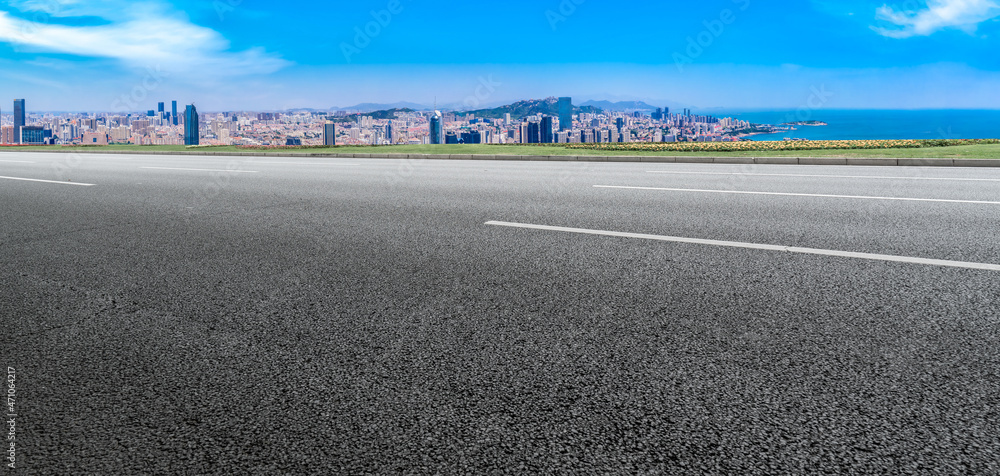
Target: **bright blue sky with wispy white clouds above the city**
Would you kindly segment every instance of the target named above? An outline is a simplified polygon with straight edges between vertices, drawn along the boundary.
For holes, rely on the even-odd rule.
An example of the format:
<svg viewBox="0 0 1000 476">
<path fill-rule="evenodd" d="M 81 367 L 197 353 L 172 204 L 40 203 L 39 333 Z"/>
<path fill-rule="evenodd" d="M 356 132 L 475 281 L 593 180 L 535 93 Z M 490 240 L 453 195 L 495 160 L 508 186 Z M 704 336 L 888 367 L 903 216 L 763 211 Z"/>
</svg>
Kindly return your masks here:
<svg viewBox="0 0 1000 476">
<path fill-rule="evenodd" d="M 0 107 L 1000 109 L 998 19 L 993 0 L 14 0 Z"/>
</svg>

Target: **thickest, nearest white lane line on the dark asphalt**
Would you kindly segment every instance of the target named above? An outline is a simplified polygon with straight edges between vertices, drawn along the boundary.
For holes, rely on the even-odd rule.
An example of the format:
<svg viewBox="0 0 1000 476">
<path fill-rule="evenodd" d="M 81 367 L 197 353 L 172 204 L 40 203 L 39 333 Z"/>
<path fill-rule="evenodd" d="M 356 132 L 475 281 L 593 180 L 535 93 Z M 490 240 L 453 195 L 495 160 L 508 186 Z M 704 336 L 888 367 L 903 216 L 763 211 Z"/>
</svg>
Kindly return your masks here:
<svg viewBox="0 0 1000 476">
<path fill-rule="evenodd" d="M 741 243 L 738 241 L 703 240 L 699 238 L 681 238 L 677 236 L 647 235 L 642 233 L 623 233 L 618 231 L 588 230 L 584 228 L 566 228 L 561 226 L 531 225 L 527 223 L 510 223 L 502 221 L 488 221 L 489 226 L 504 226 L 511 228 L 528 228 L 532 230 L 558 231 L 564 233 L 577 233 L 583 235 L 614 236 L 620 238 L 638 238 L 642 240 L 667 241 L 672 243 L 687 243 L 694 245 L 721 246 L 726 248 L 745 248 L 752 250 L 783 251 L 786 253 L 797 253 L 807 255 L 833 256 L 838 258 L 855 258 L 872 261 L 891 261 L 897 263 L 921 264 L 929 266 L 944 266 L 949 268 L 980 269 L 987 271 L 1000 271 L 1000 265 L 990 263 L 969 263 L 964 261 L 949 261 L 928 258 L 913 258 L 908 256 L 880 255 L 872 253 L 856 253 L 853 251 L 824 250 L 816 248 L 799 248 L 794 246 L 762 245 L 757 243 Z"/>
</svg>

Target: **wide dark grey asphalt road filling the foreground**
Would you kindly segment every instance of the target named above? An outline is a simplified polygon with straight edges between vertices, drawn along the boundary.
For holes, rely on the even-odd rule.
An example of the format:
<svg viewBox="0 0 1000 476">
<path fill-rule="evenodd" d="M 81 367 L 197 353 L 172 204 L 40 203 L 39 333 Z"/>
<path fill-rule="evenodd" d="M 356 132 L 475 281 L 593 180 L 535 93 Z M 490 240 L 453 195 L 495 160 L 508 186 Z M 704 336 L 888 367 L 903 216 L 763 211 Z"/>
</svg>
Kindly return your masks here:
<svg viewBox="0 0 1000 476">
<path fill-rule="evenodd" d="M 1000 264 L 997 169 L 11 152 L 0 176 L 26 474 L 1000 474 L 1000 272 L 918 260 Z"/>
</svg>

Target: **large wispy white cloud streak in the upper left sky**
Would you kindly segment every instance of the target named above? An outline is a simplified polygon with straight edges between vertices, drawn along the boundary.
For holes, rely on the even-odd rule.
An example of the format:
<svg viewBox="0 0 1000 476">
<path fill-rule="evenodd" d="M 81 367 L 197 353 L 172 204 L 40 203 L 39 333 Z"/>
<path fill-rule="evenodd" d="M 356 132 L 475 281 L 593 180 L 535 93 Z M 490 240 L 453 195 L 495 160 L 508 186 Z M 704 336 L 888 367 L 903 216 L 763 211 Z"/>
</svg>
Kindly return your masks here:
<svg viewBox="0 0 1000 476">
<path fill-rule="evenodd" d="M 232 51 L 219 32 L 195 25 L 158 2 L 84 2 L 25 0 L 11 2 L 36 12 L 31 20 L 0 11 L 0 42 L 21 50 L 112 58 L 135 67 L 159 66 L 170 72 L 237 76 L 277 71 L 288 64 L 262 48 Z M 104 24 L 70 26 L 55 19 L 97 17 Z"/>
</svg>

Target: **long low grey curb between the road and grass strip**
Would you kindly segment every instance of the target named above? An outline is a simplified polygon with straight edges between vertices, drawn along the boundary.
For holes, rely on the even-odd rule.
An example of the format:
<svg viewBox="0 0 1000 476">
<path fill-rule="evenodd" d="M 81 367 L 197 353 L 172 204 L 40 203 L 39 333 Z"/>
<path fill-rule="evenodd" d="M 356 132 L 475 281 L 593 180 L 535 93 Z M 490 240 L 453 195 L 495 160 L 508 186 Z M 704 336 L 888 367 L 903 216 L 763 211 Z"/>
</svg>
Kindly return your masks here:
<svg viewBox="0 0 1000 476">
<path fill-rule="evenodd" d="M 203 157 L 278 157 L 326 159 L 393 159 L 393 160 L 501 160 L 538 162 L 642 162 L 677 164 L 727 164 L 727 165 L 853 165 L 869 167 L 995 167 L 1000 159 L 945 159 L 945 158 L 844 158 L 844 157 L 670 157 L 628 155 L 481 155 L 481 154 L 330 154 L 330 153 L 278 153 L 278 152 L 211 152 L 185 151 L 120 151 L 120 150 L 2 150 L 3 152 L 97 154 L 97 155 L 189 155 Z"/>
</svg>

